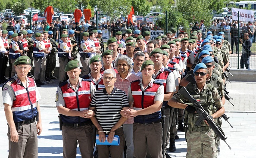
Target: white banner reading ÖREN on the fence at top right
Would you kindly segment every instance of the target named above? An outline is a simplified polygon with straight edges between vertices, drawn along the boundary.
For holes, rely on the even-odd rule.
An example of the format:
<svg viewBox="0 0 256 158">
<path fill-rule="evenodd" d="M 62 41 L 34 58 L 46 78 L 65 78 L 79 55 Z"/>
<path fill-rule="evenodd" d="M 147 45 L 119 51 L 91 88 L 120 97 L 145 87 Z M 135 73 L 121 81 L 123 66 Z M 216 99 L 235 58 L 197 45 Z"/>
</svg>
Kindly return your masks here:
<svg viewBox="0 0 256 158">
<path fill-rule="evenodd" d="M 254 10 L 238 9 L 232 8 L 232 19 L 238 20 L 238 11 L 239 11 L 239 20 L 242 22 L 252 22 L 254 21 Z"/>
</svg>

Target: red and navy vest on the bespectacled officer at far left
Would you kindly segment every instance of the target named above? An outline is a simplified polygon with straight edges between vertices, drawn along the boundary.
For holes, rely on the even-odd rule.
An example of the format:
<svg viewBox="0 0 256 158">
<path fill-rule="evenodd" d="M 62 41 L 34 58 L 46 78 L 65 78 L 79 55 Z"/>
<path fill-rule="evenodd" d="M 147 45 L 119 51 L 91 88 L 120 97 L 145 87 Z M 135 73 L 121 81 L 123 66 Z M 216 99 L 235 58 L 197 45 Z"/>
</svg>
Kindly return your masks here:
<svg viewBox="0 0 256 158">
<path fill-rule="evenodd" d="M 15 95 L 15 100 L 13 100 L 12 104 L 12 115 L 14 122 L 31 120 L 37 115 L 37 99 L 34 79 L 28 77 L 28 80 L 31 82 L 27 88 L 21 85 L 19 78 L 17 80 L 11 78 L 6 82 L 7 85 L 12 87 Z"/>
</svg>

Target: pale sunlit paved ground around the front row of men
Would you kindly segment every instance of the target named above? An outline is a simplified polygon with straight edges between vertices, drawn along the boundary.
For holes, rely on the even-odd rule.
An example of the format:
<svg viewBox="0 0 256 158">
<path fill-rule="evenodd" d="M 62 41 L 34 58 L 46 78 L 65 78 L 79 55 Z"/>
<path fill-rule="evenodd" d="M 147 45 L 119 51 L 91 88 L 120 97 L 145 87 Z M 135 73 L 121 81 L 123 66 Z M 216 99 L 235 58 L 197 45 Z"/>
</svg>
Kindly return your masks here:
<svg viewBox="0 0 256 158">
<path fill-rule="evenodd" d="M 38 87 L 42 99 L 40 101 L 43 132 L 38 136 L 38 158 L 61 158 L 62 136 L 59 130 L 58 112 L 55 107 L 55 93 L 58 81 Z M 0 84 L 0 87 L 3 84 Z M 223 120 L 222 129 L 228 137 L 227 145 L 221 141 L 221 152 L 219 158 L 255 158 L 256 149 L 256 83 L 232 82 L 227 84 L 230 96 L 233 97 L 234 107 L 226 101 L 225 108 L 228 111 L 229 122 L 233 128 Z M 0 90 L 1 92 L 1 90 Z M 2 97 L 0 98 L 2 102 Z M 179 140 L 176 140 L 176 152 L 169 152 L 175 158 L 186 156 L 187 144 L 184 132 L 179 132 Z M 2 158 L 8 157 L 7 125 L 0 105 L 0 153 Z M 79 147 L 77 157 L 81 158 Z"/>
</svg>

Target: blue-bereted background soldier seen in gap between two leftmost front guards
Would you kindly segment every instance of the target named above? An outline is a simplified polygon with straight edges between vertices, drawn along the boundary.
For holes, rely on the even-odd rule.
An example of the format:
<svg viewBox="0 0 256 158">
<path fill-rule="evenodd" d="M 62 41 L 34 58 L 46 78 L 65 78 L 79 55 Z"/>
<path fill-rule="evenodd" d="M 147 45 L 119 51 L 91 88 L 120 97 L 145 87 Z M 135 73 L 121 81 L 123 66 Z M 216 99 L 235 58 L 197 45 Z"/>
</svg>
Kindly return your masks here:
<svg viewBox="0 0 256 158">
<path fill-rule="evenodd" d="M 52 45 L 52 49 L 50 50 L 50 53 L 48 54 L 48 56 L 46 56 L 46 71 L 45 71 L 45 78 L 46 81 L 52 79 L 56 79 L 57 77 L 55 77 L 54 74 L 54 69 L 56 66 L 56 52 L 57 52 L 57 43 L 56 41 L 53 39 L 53 31 L 49 31 L 49 38 L 50 38 L 50 42 Z"/>
</svg>

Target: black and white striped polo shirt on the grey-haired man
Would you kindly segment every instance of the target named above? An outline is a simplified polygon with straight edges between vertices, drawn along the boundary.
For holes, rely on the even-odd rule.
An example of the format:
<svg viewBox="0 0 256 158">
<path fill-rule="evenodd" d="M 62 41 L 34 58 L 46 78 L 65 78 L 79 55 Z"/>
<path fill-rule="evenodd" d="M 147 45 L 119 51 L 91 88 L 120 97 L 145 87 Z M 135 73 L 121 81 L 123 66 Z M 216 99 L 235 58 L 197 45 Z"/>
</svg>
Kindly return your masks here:
<svg viewBox="0 0 256 158">
<path fill-rule="evenodd" d="M 96 108 L 96 118 L 103 130 L 111 130 L 121 118 L 122 108 L 129 107 L 129 102 L 124 91 L 114 87 L 109 95 L 104 88 L 94 93 L 90 106 Z"/>
</svg>

